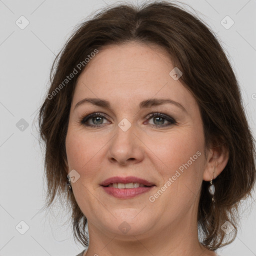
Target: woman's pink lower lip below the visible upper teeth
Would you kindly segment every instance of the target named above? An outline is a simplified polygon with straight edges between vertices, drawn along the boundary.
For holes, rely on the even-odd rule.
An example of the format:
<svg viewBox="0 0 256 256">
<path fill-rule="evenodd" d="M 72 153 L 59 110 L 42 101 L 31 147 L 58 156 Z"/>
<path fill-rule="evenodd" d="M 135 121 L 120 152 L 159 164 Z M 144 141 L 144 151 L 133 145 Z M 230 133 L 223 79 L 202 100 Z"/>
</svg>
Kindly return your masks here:
<svg viewBox="0 0 256 256">
<path fill-rule="evenodd" d="M 136 188 L 115 188 L 102 186 L 105 192 L 117 198 L 132 198 L 136 195 L 148 192 L 153 186 L 140 186 Z"/>
</svg>

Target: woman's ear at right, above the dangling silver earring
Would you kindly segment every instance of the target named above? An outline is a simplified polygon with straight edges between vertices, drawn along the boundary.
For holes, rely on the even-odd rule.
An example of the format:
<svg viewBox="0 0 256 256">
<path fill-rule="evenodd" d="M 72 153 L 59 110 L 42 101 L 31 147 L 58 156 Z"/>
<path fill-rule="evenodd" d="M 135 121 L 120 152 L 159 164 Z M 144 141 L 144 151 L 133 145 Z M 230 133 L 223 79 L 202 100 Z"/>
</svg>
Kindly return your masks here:
<svg viewBox="0 0 256 256">
<path fill-rule="evenodd" d="M 203 171 L 203 180 L 210 181 L 211 178 L 216 178 L 225 168 L 228 158 L 229 151 L 225 143 L 216 146 L 211 146 L 207 150 L 206 163 Z"/>
</svg>

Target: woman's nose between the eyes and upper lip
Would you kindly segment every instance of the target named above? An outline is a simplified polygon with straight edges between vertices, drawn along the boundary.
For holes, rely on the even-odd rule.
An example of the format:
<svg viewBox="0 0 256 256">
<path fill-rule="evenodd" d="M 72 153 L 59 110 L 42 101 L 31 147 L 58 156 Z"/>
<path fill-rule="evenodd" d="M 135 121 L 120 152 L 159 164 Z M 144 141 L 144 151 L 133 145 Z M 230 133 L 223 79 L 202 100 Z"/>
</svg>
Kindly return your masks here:
<svg viewBox="0 0 256 256">
<path fill-rule="evenodd" d="M 131 125 L 126 131 L 116 126 L 116 133 L 109 144 L 108 160 L 119 165 L 142 161 L 144 150 L 139 137 L 135 125 Z"/>
</svg>

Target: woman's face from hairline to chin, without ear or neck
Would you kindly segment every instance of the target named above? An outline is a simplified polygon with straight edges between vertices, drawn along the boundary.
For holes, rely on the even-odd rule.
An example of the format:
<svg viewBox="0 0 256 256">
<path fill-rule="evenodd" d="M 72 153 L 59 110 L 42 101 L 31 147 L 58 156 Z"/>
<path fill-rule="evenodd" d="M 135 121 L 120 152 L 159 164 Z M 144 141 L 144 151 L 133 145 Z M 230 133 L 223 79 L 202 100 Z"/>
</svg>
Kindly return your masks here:
<svg viewBox="0 0 256 256">
<path fill-rule="evenodd" d="M 196 224 L 203 126 L 194 97 L 169 74 L 173 68 L 164 49 L 129 42 L 99 50 L 80 74 L 65 143 L 89 229 L 122 237 L 122 227 L 138 235 Z M 103 186 L 111 177 L 120 179 Z M 122 188 L 127 182 L 133 184 Z"/>
</svg>

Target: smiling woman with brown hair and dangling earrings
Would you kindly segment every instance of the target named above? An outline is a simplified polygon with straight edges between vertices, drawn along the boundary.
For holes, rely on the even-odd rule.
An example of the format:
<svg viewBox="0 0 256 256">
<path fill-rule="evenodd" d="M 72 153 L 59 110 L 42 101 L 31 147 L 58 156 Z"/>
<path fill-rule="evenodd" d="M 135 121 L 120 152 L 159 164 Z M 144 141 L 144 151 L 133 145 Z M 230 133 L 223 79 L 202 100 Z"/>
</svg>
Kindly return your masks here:
<svg viewBox="0 0 256 256">
<path fill-rule="evenodd" d="M 166 1 L 110 6 L 51 71 L 39 113 L 47 206 L 67 195 L 79 255 L 217 255 L 233 241 L 255 150 L 206 25 Z"/>
</svg>

